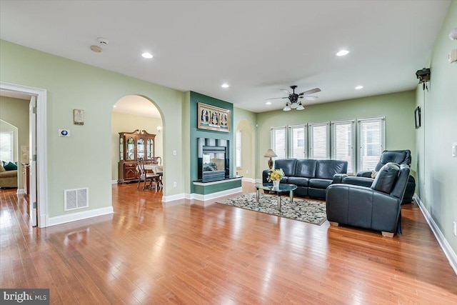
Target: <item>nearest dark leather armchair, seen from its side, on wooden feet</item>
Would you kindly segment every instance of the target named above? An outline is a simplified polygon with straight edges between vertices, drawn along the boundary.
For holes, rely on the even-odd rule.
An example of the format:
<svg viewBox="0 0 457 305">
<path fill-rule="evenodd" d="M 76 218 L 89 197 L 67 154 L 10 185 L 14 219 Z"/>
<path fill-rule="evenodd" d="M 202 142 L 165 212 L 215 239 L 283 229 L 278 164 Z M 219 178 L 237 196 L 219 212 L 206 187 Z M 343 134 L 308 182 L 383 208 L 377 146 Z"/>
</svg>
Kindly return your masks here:
<svg viewBox="0 0 457 305">
<path fill-rule="evenodd" d="M 347 224 L 401 233 L 401 201 L 408 184 L 409 166 L 388 163 L 378 171 L 371 187 L 332 184 L 327 188 L 326 212 L 332 226 Z"/>
</svg>

